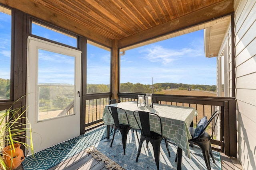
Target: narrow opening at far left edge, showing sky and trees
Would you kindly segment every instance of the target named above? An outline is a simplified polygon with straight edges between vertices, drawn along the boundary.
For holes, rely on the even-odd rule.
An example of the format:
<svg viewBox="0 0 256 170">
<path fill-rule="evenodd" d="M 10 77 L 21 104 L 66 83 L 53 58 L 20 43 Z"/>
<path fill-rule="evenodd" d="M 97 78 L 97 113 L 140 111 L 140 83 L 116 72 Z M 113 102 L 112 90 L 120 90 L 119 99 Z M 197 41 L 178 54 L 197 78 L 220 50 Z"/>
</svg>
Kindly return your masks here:
<svg viewBox="0 0 256 170">
<path fill-rule="evenodd" d="M 10 99 L 11 10 L 0 6 L 0 100 Z"/>
</svg>

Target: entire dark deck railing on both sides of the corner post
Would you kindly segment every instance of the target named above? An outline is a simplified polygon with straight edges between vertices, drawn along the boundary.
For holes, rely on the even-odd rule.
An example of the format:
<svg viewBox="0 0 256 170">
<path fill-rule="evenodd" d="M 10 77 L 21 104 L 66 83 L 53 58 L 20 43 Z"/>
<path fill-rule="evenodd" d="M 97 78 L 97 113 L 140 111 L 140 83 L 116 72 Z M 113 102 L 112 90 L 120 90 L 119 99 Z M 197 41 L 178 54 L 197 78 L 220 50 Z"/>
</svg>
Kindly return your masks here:
<svg viewBox="0 0 256 170">
<path fill-rule="evenodd" d="M 137 101 L 138 93 L 120 93 L 118 98 L 122 101 Z M 145 95 L 145 94 L 142 94 Z M 111 94 L 86 95 L 85 122 L 86 131 L 95 125 L 102 125 L 102 115 Z M 221 115 L 218 126 L 211 139 L 212 148 L 225 152 L 229 156 L 236 155 L 236 101 L 234 98 L 204 97 L 204 96 L 177 96 L 153 94 L 154 103 L 194 107 L 198 111 L 191 126 L 196 127 L 198 121 L 207 116 L 209 119 L 215 110 L 220 110 Z M 208 129 L 210 132 L 211 129 Z"/>
</svg>

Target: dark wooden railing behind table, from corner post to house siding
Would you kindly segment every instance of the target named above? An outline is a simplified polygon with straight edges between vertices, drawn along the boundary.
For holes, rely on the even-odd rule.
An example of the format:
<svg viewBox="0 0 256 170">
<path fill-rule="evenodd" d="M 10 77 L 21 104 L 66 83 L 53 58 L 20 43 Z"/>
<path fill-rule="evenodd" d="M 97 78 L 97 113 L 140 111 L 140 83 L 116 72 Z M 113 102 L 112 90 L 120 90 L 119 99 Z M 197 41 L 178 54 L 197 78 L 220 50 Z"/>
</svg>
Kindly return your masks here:
<svg viewBox="0 0 256 170">
<path fill-rule="evenodd" d="M 118 97 L 122 102 L 137 101 L 138 95 L 138 93 L 120 93 Z M 194 127 L 202 117 L 207 116 L 209 119 L 214 111 L 220 110 L 218 126 L 215 127 L 211 139 L 212 148 L 230 156 L 236 155 L 236 101 L 234 98 L 153 94 L 153 101 L 158 104 L 194 107 L 198 111 L 191 124 Z M 211 131 L 212 129 L 208 129 L 208 132 Z"/>
</svg>

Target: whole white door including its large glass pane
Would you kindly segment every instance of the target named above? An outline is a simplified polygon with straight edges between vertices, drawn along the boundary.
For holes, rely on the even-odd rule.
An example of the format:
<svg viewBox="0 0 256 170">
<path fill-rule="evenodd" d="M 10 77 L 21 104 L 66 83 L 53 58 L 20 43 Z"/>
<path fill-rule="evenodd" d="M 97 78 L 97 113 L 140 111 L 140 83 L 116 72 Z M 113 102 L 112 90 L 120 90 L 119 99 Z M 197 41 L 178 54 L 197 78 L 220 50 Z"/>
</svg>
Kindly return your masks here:
<svg viewBox="0 0 256 170">
<path fill-rule="evenodd" d="M 81 52 L 29 37 L 27 68 L 34 152 L 80 135 Z"/>
</svg>

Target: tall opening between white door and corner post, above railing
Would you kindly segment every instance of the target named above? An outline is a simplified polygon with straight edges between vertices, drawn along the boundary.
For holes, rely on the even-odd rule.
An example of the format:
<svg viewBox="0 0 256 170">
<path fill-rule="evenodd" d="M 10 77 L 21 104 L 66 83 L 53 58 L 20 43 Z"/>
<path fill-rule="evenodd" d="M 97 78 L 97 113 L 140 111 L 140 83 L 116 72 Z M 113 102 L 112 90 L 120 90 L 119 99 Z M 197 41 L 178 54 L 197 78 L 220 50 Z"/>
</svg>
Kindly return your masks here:
<svg viewBox="0 0 256 170">
<path fill-rule="evenodd" d="M 87 93 L 110 92 L 110 49 L 87 44 Z"/>
</svg>

